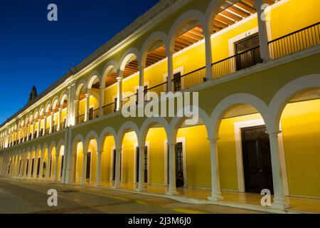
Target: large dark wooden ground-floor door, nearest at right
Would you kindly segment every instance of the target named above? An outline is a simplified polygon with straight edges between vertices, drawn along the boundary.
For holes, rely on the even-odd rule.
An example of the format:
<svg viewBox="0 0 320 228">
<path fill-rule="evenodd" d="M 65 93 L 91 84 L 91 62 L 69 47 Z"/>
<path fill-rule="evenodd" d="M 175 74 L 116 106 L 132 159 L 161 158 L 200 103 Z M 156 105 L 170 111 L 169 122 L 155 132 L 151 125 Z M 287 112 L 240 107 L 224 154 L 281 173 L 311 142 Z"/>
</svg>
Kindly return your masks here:
<svg viewBox="0 0 320 228">
<path fill-rule="evenodd" d="M 242 128 L 242 157 L 245 173 L 245 191 L 273 194 L 270 140 L 265 126 Z"/>
</svg>

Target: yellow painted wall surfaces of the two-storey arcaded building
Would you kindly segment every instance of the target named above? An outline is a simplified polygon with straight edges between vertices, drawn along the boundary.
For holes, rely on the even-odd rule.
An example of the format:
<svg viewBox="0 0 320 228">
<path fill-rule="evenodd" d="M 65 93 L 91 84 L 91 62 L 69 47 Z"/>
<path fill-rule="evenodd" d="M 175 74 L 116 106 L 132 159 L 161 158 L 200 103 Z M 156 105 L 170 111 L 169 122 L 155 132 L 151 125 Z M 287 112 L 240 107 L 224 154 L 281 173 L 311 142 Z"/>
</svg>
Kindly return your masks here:
<svg viewBox="0 0 320 228">
<path fill-rule="evenodd" d="M 164 22 L 171 20 L 171 24 L 174 24 L 174 21 L 178 21 L 179 16 L 191 10 L 188 7 L 202 7 L 196 6 L 197 4 L 198 1 L 191 1 L 190 4 L 176 11 L 170 18 L 164 19 Z M 266 26 L 270 41 L 320 21 L 320 15 L 317 11 L 317 9 L 320 9 L 320 2 L 316 0 L 282 0 L 269 9 L 271 10 L 267 11 L 267 19 L 270 20 L 266 21 Z M 203 9 L 199 12 L 205 15 Z M 213 63 L 235 55 L 234 43 L 257 33 L 259 30 L 257 20 L 257 14 L 252 14 L 246 19 L 213 34 L 210 48 Z M 177 123 L 183 123 L 184 118 L 181 118 L 181 122 L 176 122 L 176 118 L 172 117 L 158 119 L 146 117 L 124 118 L 121 112 L 114 112 L 115 108 L 121 110 L 121 107 L 117 107 L 117 104 L 112 104 L 114 99 L 120 98 L 120 93 L 123 94 L 123 98 L 126 97 L 126 92 L 137 93 L 139 79 L 142 76 L 141 72 L 124 78 L 123 81 L 120 78 L 122 84 L 114 83 L 101 91 L 97 88 L 85 88 L 84 84 L 90 80 L 90 76 L 97 76 L 101 84 L 104 70 L 109 66 L 108 63 L 115 61 L 120 68 L 123 63 L 119 61 L 122 57 L 126 57 L 123 56 L 125 51 L 130 50 L 129 48 L 142 49 L 146 38 L 154 31 L 163 31 L 169 36 L 166 26 L 169 25 L 160 23 L 152 29 L 144 31 L 132 43 L 128 43 L 127 46 L 119 48 L 112 54 L 110 53 L 110 56 L 105 57 L 101 63 L 93 64 L 92 68 L 83 70 L 85 73 L 80 73 L 80 76 L 74 76 L 72 83 L 61 86 L 52 97 L 43 98 L 41 103 L 34 105 L 23 115 L 21 114 L 21 120 L 26 120 L 37 110 L 41 111 L 41 105 L 46 104 L 47 101 L 52 101 L 55 97 L 60 99 L 66 91 L 68 91 L 67 94 L 70 94 L 68 99 L 71 98 L 71 100 L 68 100 L 67 107 L 60 106 L 61 119 L 59 120 L 59 113 L 56 111 L 53 118 L 55 125 L 67 122 L 65 125 L 68 126 L 68 129 L 60 128 L 59 131 L 57 130 L 42 138 L 29 139 L 14 147 L 4 148 L 3 152 L 0 153 L 9 154 L 9 157 L 2 158 L 4 162 L 0 164 L 5 164 L 7 158 L 11 159 L 12 152 L 26 154 L 22 159 L 29 158 L 28 174 L 26 176 L 30 177 L 31 158 L 35 156 L 35 151 L 40 146 L 41 150 L 37 151 L 37 155 L 41 156 L 41 151 L 43 152 L 43 161 L 46 161 L 47 165 L 46 170 L 50 169 L 49 162 L 51 162 L 50 177 L 48 178 L 47 174 L 43 174 L 46 178 L 60 180 L 64 183 L 75 182 L 90 185 L 112 183 L 115 187 L 119 187 L 117 186 L 118 180 L 114 180 L 114 176 L 117 179 L 117 175 L 119 175 L 119 182 L 122 184 L 137 183 L 137 147 L 139 147 L 140 140 L 143 139 L 142 142 L 145 142 L 148 146 L 148 182 L 146 184 L 149 186 L 168 186 L 168 177 L 170 176 L 168 175 L 170 173 L 168 143 L 170 145 L 181 142 L 183 145 L 185 188 L 210 190 L 217 183 L 213 182 L 215 180 L 213 180 L 212 174 L 218 173 L 220 190 L 242 192 L 244 191 L 240 190 L 242 167 L 239 165 L 242 153 L 238 155 L 238 147 L 241 148 L 242 145 L 238 140 L 239 135 L 236 135 L 238 132 L 235 127 L 239 123 L 252 123 L 255 120 L 257 122 L 263 121 L 270 138 L 272 134 L 276 134 L 277 140 L 279 140 L 279 143 L 270 140 L 272 145 L 270 153 L 274 158 L 274 146 L 277 145 L 279 156 L 276 157 L 279 160 L 277 162 L 279 165 L 273 163 L 272 168 L 278 169 L 279 172 L 284 171 L 281 174 L 282 177 L 277 179 L 287 187 L 288 192 L 286 192 L 286 187 L 282 186 L 284 188 L 283 194 L 319 198 L 320 86 L 317 83 L 319 83 L 320 78 L 320 41 L 317 41 L 319 43 L 315 46 L 309 44 L 309 49 L 306 48 L 299 53 L 272 59 L 242 71 L 232 72 L 230 69 L 235 68 L 235 66 L 228 64 L 223 71 L 228 71 L 230 75 L 223 76 L 218 80 L 215 80 L 214 76 L 212 78 L 209 76 L 206 83 L 187 88 L 191 92 L 198 92 L 199 95 L 200 118 L 203 119 L 197 125 L 176 125 Z M 202 24 L 201 26 L 205 25 Z M 297 38 L 295 41 L 297 41 Z M 181 71 L 183 75 L 203 68 L 203 66 L 206 66 L 206 54 L 208 55 L 206 53 L 206 40 L 198 41 L 198 43 L 174 53 L 173 73 Z M 135 57 L 140 60 L 139 56 Z M 124 65 L 126 65 L 125 62 Z M 169 71 L 168 65 L 168 58 L 164 58 L 145 68 L 144 85 L 152 88 L 166 82 Z M 119 68 L 116 70 L 121 70 Z M 187 80 L 189 79 L 182 78 L 182 84 L 187 84 Z M 119 90 L 119 88 L 122 90 Z M 81 94 L 79 97 L 82 100 L 78 100 L 77 103 L 75 101 L 78 99 L 76 98 L 78 90 Z M 90 93 L 89 104 L 83 96 L 86 93 Z M 104 95 L 103 99 L 100 98 L 101 94 Z M 100 100 L 103 100 L 103 103 L 100 104 Z M 278 104 L 278 101 L 282 103 Z M 225 103 L 228 105 L 225 105 Z M 76 118 L 84 116 L 86 112 L 89 114 L 87 106 L 89 109 L 99 110 L 109 104 L 112 105 L 102 110 L 102 116 L 100 112 L 95 111 L 93 120 L 83 118 L 82 122 L 77 122 Z M 78 106 L 75 107 L 75 105 Z M 277 110 L 274 110 L 274 107 Z M 220 113 L 215 113 L 218 111 Z M 233 113 L 233 115 L 229 116 L 230 113 Z M 281 116 L 279 118 L 280 124 L 277 123 L 277 115 Z M 50 122 L 51 119 L 48 118 L 46 129 L 51 127 Z M 146 123 L 149 124 L 150 128 L 146 128 Z M 163 123 L 165 124 L 163 125 Z M 12 124 L 14 125 L 14 123 Z M 216 125 L 218 125 L 217 128 Z M 9 128 L 11 126 L 9 125 Z M 43 126 L 44 120 L 41 120 L 40 128 L 43 128 Z M 33 123 L 30 124 L 29 132 L 33 133 L 38 129 L 39 123 L 36 121 L 34 129 Z M 8 128 L 6 126 L 1 127 L 0 130 L 1 135 L 4 135 L 1 136 L 4 139 L 2 142 L 8 141 L 5 136 Z M 25 134 L 27 134 L 25 129 L 22 129 L 16 138 L 14 138 L 14 135 L 10 135 L 9 138 L 11 141 L 15 141 L 18 138 L 24 138 Z M 171 141 L 169 142 L 169 140 Z M 215 143 L 217 147 L 213 148 Z M 114 150 L 119 154 L 114 153 Z M 215 172 L 212 169 L 213 151 L 217 152 L 218 159 L 215 162 L 219 167 Z M 55 156 L 56 152 L 58 152 L 58 157 Z M 88 152 L 91 155 L 90 178 L 87 178 Z M 100 152 L 102 152 L 101 159 Z M 121 162 L 117 161 L 120 170 L 117 175 L 114 175 L 114 172 L 117 172 L 114 155 L 121 157 Z M 101 162 L 100 168 L 99 162 Z M 70 165 L 70 167 L 67 168 L 67 165 Z M 8 174 L 6 173 L 7 168 L 7 166 L 2 167 L 2 174 Z M 83 168 L 86 170 L 83 170 Z M 273 169 L 273 177 L 277 178 Z M 60 179 L 60 177 L 62 178 Z M 274 187 L 279 187 L 277 180 L 274 180 Z"/>
</svg>

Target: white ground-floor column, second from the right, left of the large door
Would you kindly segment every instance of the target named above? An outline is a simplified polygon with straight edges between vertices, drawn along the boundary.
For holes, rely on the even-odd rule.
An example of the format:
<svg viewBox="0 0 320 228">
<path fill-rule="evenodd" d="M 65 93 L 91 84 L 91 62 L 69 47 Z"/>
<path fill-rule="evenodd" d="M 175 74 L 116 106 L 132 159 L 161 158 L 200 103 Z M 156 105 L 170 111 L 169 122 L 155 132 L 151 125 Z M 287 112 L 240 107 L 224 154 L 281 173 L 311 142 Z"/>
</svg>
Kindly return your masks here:
<svg viewBox="0 0 320 228">
<path fill-rule="evenodd" d="M 210 201 L 218 201 L 223 199 L 220 191 L 220 177 L 219 177 L 219 165 L 218 165 L 218 140 L 208 139 L 210 142 L 210 160 L 211 160 L 211 185 L 212 192 L 208 198 Z"/>
</svg>

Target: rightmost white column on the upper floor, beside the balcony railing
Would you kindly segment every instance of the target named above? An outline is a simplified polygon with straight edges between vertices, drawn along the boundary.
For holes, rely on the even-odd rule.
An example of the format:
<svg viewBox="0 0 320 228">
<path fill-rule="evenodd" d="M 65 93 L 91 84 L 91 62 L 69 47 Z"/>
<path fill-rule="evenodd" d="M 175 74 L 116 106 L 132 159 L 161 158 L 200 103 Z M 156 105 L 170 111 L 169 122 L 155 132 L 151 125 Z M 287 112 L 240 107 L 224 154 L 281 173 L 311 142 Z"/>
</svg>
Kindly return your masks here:
<svg viewBox="0 0 320 228">
<path fill-rule="evenodd" d="M 255 9 L 257 9 L 257 20 L 259 27 L 259 43 L 260 43 L 260 56 L 262 60 L 270 60 L 270 51 L 268 47 L 268 33 L 267 33 L 267 24 L 265 21 L 265 7 L 262 7 L 263 4 L 267 4 L 266 0 L 255 0 Z"/>
</svg>

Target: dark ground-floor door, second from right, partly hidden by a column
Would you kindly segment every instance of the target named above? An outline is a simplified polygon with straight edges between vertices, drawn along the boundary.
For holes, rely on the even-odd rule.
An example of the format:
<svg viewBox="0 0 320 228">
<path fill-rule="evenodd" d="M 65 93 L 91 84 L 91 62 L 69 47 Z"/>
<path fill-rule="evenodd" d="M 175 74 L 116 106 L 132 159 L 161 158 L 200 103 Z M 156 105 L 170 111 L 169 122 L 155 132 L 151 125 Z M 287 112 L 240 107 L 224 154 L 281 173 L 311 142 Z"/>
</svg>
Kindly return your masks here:
<svg viewBox="0 0 320 228">
<path fill-rule="evenodd" d="M 176 187 L 183 187 L 183 144 L 178 142 L 175 146 L 175 157 L 176 157 Z M 168 146 L 168 185 L 169 185 L 169 146 Z"/>
</svg>

